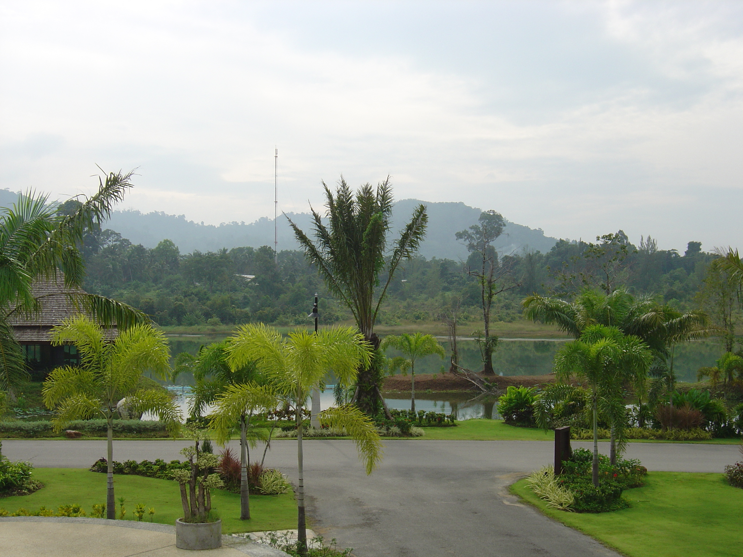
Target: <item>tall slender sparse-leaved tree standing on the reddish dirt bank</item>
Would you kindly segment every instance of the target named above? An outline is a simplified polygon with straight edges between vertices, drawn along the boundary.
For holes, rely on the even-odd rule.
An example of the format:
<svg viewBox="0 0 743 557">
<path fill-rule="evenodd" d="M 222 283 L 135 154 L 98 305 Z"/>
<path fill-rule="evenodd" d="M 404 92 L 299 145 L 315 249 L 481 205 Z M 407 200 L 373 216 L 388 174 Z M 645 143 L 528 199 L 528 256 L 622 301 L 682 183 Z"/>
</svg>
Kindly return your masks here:
<svg viewBox="0 0 743 557">
<path fill-rule="evenodd" d="M 493 375 L 493 352 L 498 345 L 498 337 L 490 334 L 490 310 L 493 300 L 500 293 L 516 288 L 519 284 L 513 281 L 508 264 L 499 261 L 493 242 L 502 234 L 505 223 L 503 216 L 495 211 L 483 211 L 478 218 L 479 224 L 473 224 L 467 230 L 456 232 L 457 240 L 464 241 L 470 259 L 467 260 L 467 274 L 477 279 L 480 285 L 480 304 L 484 330 L 476 333 L 476 341 L 482 355 L 482 372 Z"/>
</svg>

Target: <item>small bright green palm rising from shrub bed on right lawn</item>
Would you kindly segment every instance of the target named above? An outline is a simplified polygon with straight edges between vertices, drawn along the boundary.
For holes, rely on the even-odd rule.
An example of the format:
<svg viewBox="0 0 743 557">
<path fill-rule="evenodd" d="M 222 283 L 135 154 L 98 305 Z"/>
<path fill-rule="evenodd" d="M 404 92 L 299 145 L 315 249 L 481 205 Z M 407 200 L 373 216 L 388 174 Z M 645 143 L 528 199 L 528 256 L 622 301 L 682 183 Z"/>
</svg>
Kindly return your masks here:
<svg viewBox="0 0 743 557">
<path fill-rule="evenodd" d="M 624 335 L 616 327 L 591 325 L 580 339 L 565 343 L 554 359 L 554 372 L 559 382 L 577 377 L 590 390 L 594 429 L 594 486 L 598 479 L 598 412 L 609 417 L 617 427 L 623 443 L 625 407 L 623 386 L 631 381 L 644 382 L 652 352 L 637 336 Z"/>
</svg>

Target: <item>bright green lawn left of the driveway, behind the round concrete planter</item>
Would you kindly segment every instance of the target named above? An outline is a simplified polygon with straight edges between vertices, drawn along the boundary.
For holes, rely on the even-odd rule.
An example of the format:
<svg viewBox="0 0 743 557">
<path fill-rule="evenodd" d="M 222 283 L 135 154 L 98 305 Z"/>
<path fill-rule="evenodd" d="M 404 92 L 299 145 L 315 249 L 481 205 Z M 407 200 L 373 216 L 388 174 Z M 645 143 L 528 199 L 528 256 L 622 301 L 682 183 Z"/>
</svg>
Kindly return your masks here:
<svg viewBox="0 0 743 557">
<path fill-rule="evenodd" d="M 46 506 L 54 509 L 65 504 L 79 504 L 90 515 L 94 504 L 106 503 L 106 474 L 77 468 L 36 468 L 33 476 L 45 487 L 31 495 L 0 499 L 0 508 L 16 512 Z M 114 475 L 116 498 L 126 499 L 126 518 L 132 519 L 134 505 L 142 503 L 155 507 L 155 522 L 174 524 L 183 516 L 181 489 L 170 480 L 142 476 Z M 250 495 L 250 521 L 240 520 L 240 496 L 215 489 L 212 508 L 222 519 L 222 532 L 251 532 L 257 530 L 285 530 L 296 528 L 296 503 L 293 493 L 285 495 Z M 149 515 L 145 511 L 145 521 Z M 118 518 L 118 502 L 117 502 Z"/>
</svg>

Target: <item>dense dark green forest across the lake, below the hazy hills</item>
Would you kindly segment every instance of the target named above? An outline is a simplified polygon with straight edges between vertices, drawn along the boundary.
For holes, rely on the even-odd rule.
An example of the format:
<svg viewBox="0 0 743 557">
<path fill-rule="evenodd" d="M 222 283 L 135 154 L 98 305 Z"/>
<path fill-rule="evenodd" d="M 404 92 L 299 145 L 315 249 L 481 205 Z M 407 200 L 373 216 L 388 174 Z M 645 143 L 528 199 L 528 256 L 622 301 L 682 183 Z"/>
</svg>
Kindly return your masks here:
<svg viewBox="0 0 743 557">
<path fill-rule="evenodd" d="M 595 250 L 606 247 L 598 261 Z M 84 253 L 88 291 L 132 304 L 162 326 L 305 324 L 315 292 L 320 294 L 322 322 L 351 318 L 298 250 L 281 251 L 276 266 L 267 246 L 182 254 L 169 240 L 148 249 L 104 229 L 88 232 Z M 683 255 L 658 250 L 651 238 L 635 247 L 621 231 L 598 244 L 560 240 L 548 253 L 496 254 L 502 280 L 520 285 L 497 296 L 493 320 L 518 319 L 521 300 L 534 292 L 601 287 L 601 275 L 607 272 L 611 281 L 631 292 L 658 295 L 681 310 L 698 307 L 704 302 L 698 293 L 714 257 L 694 241 Z M 421 256 L 406 261 L 389 289 L 380 325 L 438 321 L 452 299 L 460 301 L 461 321 L 481 319 L 480 288 L 476 277 L 465 272 L 467 264 Z"/>
</svg>

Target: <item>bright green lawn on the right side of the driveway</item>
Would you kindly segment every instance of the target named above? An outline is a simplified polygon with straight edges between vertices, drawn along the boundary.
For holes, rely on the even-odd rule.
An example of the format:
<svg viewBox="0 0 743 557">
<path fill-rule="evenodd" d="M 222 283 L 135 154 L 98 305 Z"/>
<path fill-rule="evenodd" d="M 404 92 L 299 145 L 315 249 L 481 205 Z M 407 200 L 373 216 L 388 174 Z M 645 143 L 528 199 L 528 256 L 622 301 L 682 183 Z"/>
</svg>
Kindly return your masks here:
<svg viewBox="0 0 743 557">
<path fill-rule="evenodd" d="M 548 509 L 525 480 L 511 492 L 630 557 L 733 557 L 743 547 L 743 489 L 721 474 L 649 472 L 643 487 L 623 494 L 632 508 L 600 514 Z"/>
</svg>

